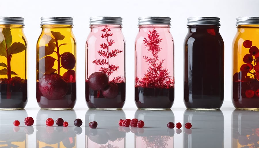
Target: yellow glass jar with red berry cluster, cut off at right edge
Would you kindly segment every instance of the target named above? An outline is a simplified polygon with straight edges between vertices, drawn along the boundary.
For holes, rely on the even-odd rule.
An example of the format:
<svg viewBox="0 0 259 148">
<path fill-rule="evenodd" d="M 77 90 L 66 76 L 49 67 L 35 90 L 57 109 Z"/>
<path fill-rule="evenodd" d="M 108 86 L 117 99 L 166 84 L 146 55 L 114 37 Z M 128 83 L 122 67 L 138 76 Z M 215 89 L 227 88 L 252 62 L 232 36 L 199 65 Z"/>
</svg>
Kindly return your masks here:
<svg viewBox="0 0 259 148">
<path fill-rule="evenodd" d="M 259 109 L 259 17 L 237 18 L 233 40 L 233 94 L 237 109 Z"/>
</svg>

